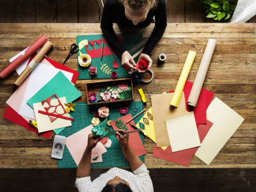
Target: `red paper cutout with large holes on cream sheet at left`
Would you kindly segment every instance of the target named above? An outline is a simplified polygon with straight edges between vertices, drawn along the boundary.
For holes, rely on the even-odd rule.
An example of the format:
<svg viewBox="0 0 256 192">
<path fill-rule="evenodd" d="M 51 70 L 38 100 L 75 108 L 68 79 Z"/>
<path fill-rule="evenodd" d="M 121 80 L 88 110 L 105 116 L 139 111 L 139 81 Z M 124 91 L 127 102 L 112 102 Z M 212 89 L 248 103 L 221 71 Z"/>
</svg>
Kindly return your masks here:
<svg viewBox="0 0 256 192">
<path fill-rule="evenodd" d="M 56 106 L 52 106 L 52 105 L 51 105 L 52 97 L 55 97 L 55 98 L 58 100 L 58 103 L 59 103 L 58 105 L 56 105 Z M 44 106 L 44 103 L 45 103 L 45 102 L 47 102 L 47 103 L 49 104 L 49 107 L 48 107 L 48 108 L 44 107 L 45 111 L 46 111 L 47 113 L 49 113 L 49 109 L 54 108 L 54 111 L 53 111 L 52 113 L 49 113 L 49 114 L 58 115 L 58 116 L 54 116 L 54 115 L 49 116 L 51 122 L 53 122 L 53 121 L 56 120 L 58 117 L 60 117 L 60 116 L 62 116 L 62 115 L 64 115 L 64 114 L 67 113 L 67 111 L 65 111 L 65 108 L 62 106 L 62 104 L 61 104 L 61 102 L 60 102 L 60 99 L 57 97 L 56 94 L 54 94 L 54 95 L 52 95 L 51 97 L 49 97 L 49 98 L 43 100 L 43 101 L 41 102 L 41 103 L 42 103 L 42 106 Z M 58 112 L 57 112 L 57 108 L 58 108 L 59 106 L 61 106 L 61 108 L 63 109 L 63 113 L 58 113 Z M 39 113 L 39 111 L 38 111 L 38 113 Z M 44 115 L 46 115 L 46 114 L 44 114 Z M 54 117 L 52 117 L 52 116 L 54 116 Z"/>
</svg>

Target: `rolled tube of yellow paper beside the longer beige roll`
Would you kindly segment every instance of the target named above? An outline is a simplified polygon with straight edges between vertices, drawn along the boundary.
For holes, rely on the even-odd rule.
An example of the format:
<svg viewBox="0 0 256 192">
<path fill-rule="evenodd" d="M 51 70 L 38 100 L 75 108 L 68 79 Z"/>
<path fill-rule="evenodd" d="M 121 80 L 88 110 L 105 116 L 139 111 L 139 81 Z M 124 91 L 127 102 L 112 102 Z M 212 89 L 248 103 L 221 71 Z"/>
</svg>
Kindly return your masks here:
<svg viewBox="0 0 256 192">
<path fill-rule="evenodd" d="M 189 71 L 191 69 L 191 66 L 193 64 L 193 61 L 195 60 L 196 52 L 195 51 L 189 51 L 188 56 L 186 58 L 184 67 L 182 68 L 182 72 L 180 74 L 179 81 L 177 83 L 177 86 L 175 88 L 175 91 L 173 93 L 170 105 L 171 106 L 179 106 L 180 97 L 182 95 L 186 80 L 188 78 Z"/>
</svg>

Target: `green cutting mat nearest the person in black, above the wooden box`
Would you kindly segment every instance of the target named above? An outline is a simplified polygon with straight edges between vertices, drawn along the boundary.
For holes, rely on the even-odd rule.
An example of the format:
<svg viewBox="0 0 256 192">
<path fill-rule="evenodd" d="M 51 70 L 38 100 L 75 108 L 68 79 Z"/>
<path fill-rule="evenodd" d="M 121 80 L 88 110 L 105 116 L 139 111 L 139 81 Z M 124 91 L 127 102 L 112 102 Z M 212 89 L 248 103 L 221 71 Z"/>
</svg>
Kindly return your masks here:
<svg viewBox="0 0 256 192">
<path fill-rule="evenodd" d="M 103 35 L 81 35 L 81 36 L 77 36 L 76 37 L 76 42 L 77 45 L 79 45 L 79 42 L 81 42 L 82 40 L 88 40 L 88 42 L 92 41 L 92 40 L 99 40 L 104 38 Z M 127 50 L 131 49 L 132 47 L 134 47 L 135 45 L 139 44 L 142 41 L 142 34 L 141 33 L 129 33 L 129 34 L 123 34 L 122 35 L 122 42 L 124 44 L 124 46 L 127 48 Z M 92 46 L 91 46 L 92 47 Z M 88 49 L 90 50 L 90 46 L 88 46 Z M 91 48 L 92 49 L 92 48 Z M 100 49 L 100 47 L 99 47 Z M 140 47 L 141 49 L 141 47 Z M 134 53 L 136 53 L 137 51 L 139 51 L 140 49 L 134 51 Z M 82 54 L 86 54 L 86 48 L 85 46 L 83 47 L 83 49 L 80 50 Z M 133 53 L 133 54 L 134 54 Z M 114 68 L 113 67 L 113 61 L 115 60 L 113 54 L 108 55 L 108 56 L 104 56 L 102 58 L 101 63 L 102 64 L 107 64 L 109 66 L 109 68 L 111 68 L 111 72 L 115 71 L 118 74 L 118 77 L 129 77 L 128 74 L 128 70 L 125 70 L 124 67 L 122 67 L 122 62 L 121 62 L 121 56 L 120 54 L 115 54 L 116 58 L 118 60 L 118 64 L 119 67 L 118 68 Z M 77 58 L 79 56 L 79 52 L 77 52 Z M 134 58 L 134 61 L 137 63 L 139 56 L 137 56 L 136 58 Z M 105 78 L 111 78 L 111 75 L 109 74 L 105 74 L 104 72 L 102 72 L 102 70 L 100 70 L 100 67 L 102 66 L 100 64 L 100 57 L 99 58 L 94 58 L 92 59 L 92 63 L 90 66 L 95 66 L 97 68 L 97 75 L 96 76 L 91 76 L 89 74 L 89 67 L 81 67 L 78 63 L 77 60 L 77 65 L 78 65 L 78 72 L 80 73 L 78 76 L 78 79 L 105 79 Z"/>
</svg>

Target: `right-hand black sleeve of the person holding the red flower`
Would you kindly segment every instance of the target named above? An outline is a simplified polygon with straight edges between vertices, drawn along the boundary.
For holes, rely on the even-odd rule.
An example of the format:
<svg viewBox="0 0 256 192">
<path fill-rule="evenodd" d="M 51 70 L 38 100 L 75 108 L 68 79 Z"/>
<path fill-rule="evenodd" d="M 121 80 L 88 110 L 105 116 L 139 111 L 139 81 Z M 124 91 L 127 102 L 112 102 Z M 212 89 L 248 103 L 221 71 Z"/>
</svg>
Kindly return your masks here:
<svg viewBox="0 0 256 192">
<path fill-rule="evenodd" d="M 155 27 L 148 38 L 148 42 L 143 49 L 143 53 L 150 55 L 157 42 L 161 39 L 167 26 L 166 19 L 166 3 L 164 0 L 158 0 L 158 5 L 155 11 Z"/>
</svg>

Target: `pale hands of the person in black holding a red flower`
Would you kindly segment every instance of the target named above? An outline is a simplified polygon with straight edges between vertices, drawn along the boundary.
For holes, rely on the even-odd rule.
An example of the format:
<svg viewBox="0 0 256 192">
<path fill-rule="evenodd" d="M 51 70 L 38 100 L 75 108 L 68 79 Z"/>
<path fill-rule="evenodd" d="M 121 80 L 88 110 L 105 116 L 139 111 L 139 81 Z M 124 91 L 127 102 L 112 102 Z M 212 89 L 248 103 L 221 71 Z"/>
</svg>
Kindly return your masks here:
<svg viewBox="0 0 256 192">
<path fill-rule="evenodd" d="M 148 60 L 149 61 L 148 69 L 151 67 L 152 60 L 150 59 L 150 56 L 148 56 L 147 54 L 141 53 L 139 61 L 140 60 Z M 137 70 L 136 63 L 134 62 L 134 60 L 132 59 L 131 54 L 128 51 L 125 51 L 122 54 L 122 65 L 125 65 L 129 68 L 133 68 L 134 70 Z M 138 69 L 138 72 L 145 72 L 145 70 L 139 70 Z"/>
</svg>

